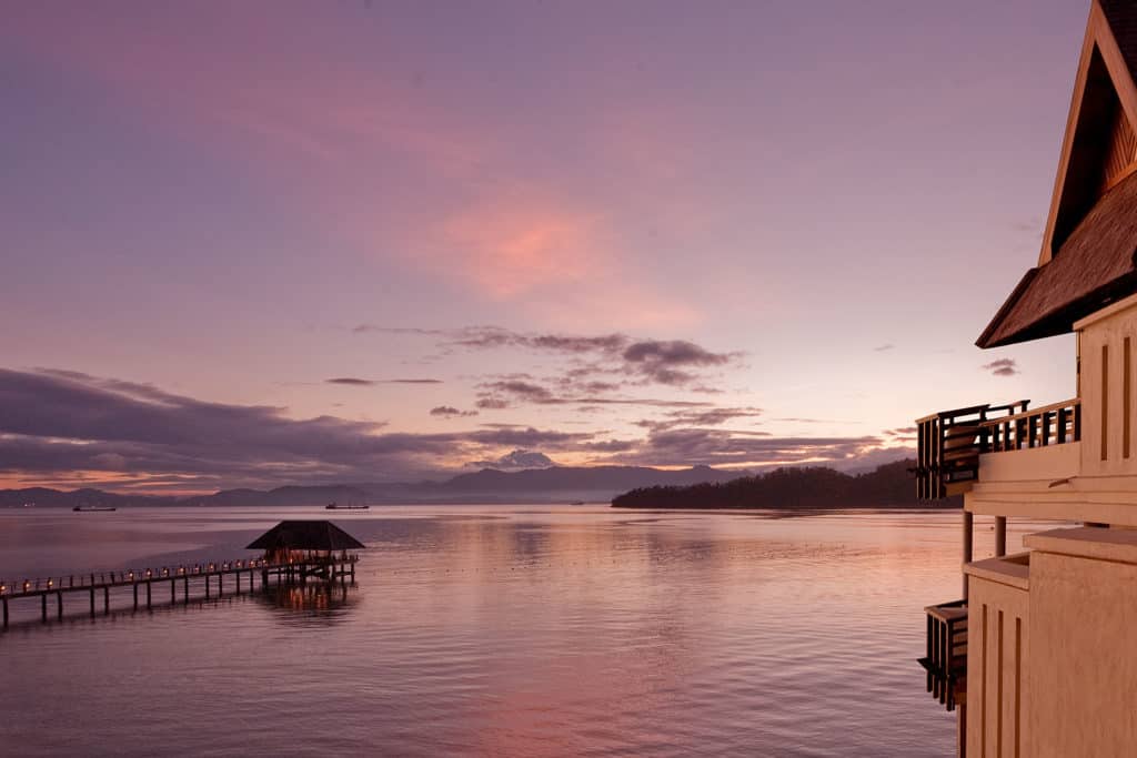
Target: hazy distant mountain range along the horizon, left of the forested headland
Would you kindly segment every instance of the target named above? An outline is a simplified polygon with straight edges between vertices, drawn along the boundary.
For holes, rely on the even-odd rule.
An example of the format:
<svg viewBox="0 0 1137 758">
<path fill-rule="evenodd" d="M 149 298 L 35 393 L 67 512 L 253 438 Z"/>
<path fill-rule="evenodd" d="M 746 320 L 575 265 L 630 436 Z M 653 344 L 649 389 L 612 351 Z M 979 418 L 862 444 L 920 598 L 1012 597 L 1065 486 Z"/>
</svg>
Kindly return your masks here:
<svg viewBox="0 0 1137 758">
<path fill-rule="evenodd" d="M 739 472 L 709 466 L 664 470 L 641 466 L 554 466 L 521 472 L 483 468 L 443 482 L 359 483 L 335 485 L 289 485 L 274 490 L 222 490 L 191 498 L 121 494 L 101 490 L 69 492 L 32 488 L 0 490 L 0 508 L 72 508 L 89 506 L 323 506 L 329 502 L 396 503 L 517 503 L 517 502 L 608 502 L 620 492 L 654 485 L 683 486 L 699 482 L 727 482 Z"/>
</svg>

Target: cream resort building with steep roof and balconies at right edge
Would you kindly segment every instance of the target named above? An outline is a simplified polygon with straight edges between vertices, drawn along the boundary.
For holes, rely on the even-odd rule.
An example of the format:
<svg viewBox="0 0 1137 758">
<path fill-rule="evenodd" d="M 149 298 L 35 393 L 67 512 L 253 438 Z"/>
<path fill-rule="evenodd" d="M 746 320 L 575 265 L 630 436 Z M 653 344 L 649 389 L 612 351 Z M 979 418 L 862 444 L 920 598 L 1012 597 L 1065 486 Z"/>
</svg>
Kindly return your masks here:
<svg viewBox="0 0 1137 758">
<path fill-rule="evenodd" d="M 1038 264 L 978 340 L 1074 333 L 1077 397 L 918 422 L 920 495 L 963 494 L 962 598 L 927 609 L 921 660 L 961 756 L 1137 755 L 1135 81 L 1137 2 L 1093 0 Z M 1006 555 L 1009 518 L 1054 524 Z"/>
</svg>

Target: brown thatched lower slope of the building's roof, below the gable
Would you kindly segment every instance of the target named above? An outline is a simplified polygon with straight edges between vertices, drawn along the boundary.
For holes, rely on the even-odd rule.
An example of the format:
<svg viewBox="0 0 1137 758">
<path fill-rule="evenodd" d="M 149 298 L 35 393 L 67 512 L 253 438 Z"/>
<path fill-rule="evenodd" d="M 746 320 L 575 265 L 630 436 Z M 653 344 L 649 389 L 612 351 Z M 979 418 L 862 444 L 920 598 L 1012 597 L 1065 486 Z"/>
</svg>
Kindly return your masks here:
<svg viewBox="0 0 1137 758">
<path fill-rule="evenodd" d="M 1102 195 L 1057 255 L 1031 268 L 976 342 L 995 348 L 1063 334 L 1137 292 L 1137 173 Z"/>
</svg>

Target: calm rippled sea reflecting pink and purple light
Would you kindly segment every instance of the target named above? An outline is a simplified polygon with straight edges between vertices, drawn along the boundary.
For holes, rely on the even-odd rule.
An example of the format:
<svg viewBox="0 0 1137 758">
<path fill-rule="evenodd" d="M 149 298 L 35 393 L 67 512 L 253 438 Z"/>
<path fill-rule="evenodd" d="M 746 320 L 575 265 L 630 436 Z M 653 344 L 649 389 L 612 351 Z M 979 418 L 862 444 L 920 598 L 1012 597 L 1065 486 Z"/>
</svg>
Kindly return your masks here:
<svg viewBox="0 0 1137 758">
<path fill-rule="evenodd" d="M 244 557 L 276 520 L 326 515 L 5 510 L 0 577 Z M 915 659 L 922 607 L 960 592 L 957 513 L 414 506 L 334 520 L 368 545 L 346 597 L 134 613 L 126 591 L 92 620 L 74 595 L 47 625 L 14 602 L 0 753 L 953 755 L 954 714 Z"/>
</svg>

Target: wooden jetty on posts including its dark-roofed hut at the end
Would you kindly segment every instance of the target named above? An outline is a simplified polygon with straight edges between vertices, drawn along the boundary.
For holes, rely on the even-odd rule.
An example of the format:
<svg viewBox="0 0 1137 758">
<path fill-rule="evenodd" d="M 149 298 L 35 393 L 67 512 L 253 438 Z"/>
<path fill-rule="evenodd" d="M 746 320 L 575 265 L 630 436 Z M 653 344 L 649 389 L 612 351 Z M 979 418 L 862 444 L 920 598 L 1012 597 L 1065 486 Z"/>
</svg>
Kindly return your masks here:
<svg viewBox="0 0 1137 758">
<path fill-rule="evenodd" d="M 225 593 L 226 577 L 232 577 L 236 594 L 242 592 L 242 580 L 247 582 L 248 592 L 255 591 L 258 576 L 262 590 L 273 585 L 306 584 L 308 581 L 355 584 L 355 565 L 359 555 L 350 551 L 364 547 L 331 522 L 293 520 L 281 522 L 247 548 L 265 551 L 257 558 L 149 567 L 141 570 L 88 572 L 25 578 L 17 583 L 0 580 L 0 628 L 8 628 L 9 603 L 30 598 L 40 599 L 40 617 L 47 623 L 49 605 L 55 606 L 58 618 L 64 617 L 64 595 L 86 595 L 91 617 L 97 615 L 97 598 L 101 595 L 102 613 L 109 615 L 110 591 L 123 588 L 131 588 L 134 609 L 138 610 L 142 602 L 151 608 L 156 589 L 165 589 L 167 584 L 172 605 L 177 602 L 179 586 L 185 603 L 190 602 L 191 586 L 194 597 L 199 597 L 204 589 L 207 600 L 214 591 L 219 598 Z"/>
</svg>

